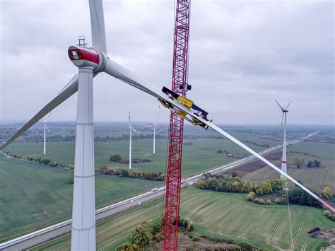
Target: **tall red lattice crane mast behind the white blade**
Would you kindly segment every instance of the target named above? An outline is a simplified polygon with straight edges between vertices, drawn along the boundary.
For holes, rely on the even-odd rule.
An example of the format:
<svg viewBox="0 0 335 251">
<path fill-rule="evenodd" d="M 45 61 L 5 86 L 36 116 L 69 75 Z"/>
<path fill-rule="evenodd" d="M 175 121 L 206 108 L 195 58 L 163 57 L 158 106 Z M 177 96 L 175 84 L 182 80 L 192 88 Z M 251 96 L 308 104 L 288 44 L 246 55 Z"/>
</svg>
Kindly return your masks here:
<svg viewBox="0 0 335 251">
<path fill-rule="evenodd" d="M 177 0 L 175 15 L 175 43 L 173 49 L 172 91 L 186 96 L 187 57 L 189 42 L 189 1 Z M 180 211 L 182 135 L 184 119 L 170 113 L 170 141 L 165 192 L 164 250 L 177 250 Z"/>
</svg>

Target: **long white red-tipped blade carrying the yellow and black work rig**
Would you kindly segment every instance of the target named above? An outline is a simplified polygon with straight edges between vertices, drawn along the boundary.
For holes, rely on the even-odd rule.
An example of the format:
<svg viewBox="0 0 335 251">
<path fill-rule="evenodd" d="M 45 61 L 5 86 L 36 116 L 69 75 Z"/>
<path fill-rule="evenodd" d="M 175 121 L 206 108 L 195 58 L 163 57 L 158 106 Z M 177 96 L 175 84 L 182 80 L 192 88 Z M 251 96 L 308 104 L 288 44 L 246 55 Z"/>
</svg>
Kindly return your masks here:
<svg viewBox="0 0 335 251">
<path fill-rule="evenodd" d="M 258 153 L 253 151 L 251 148 L 249 148 L 248 146 L 246 146 L 242 142 L 238 141 L 237 139 L 235 139 L 233 136 L 231 136 L 227 132 L 225 132 L 222 129 L 220 129 L 219 127 L 217 127 L 215 124 L 207 121 L 206 119 L 204 119 L 203 117 L 201 117 L 199 115 L 196 115 L 196 112 L 194 112 L 193 110 L 191 110 L 191 109 L 187 108 L 186 106 L 182 105 L 177 100 L 172 100 L 167 95 L 165 95 L 163 92 L 156 91 L 156 89 L 153 86 L 151 86 L 148 82 L 143 81 L 141 78 L 139 78 L 139 76 L 136 76 L 135 74 L 131 73 L 131 71 L 125 69 L 123 66 L 113 62 L 110 59 L 107 59 L 107 63 L 105 65 L 104 71 L 107 74 L 110 74 L 110 75 L 114 76 L 115 78 L 118 78 L 119 80 L 124 81 L 125 83 L 128 83 L 129 85 L 134 86 L 134 87 L 140 89 L 141 91 L 144 91 L 144 92 L 152 95 L 155 98 L 158 98 L 160 100 L 166 101 L 167 103 L 170 103 L 173 107 L 186 112 L 187 115 L 190 115 L 190 116 L 198 119 L 200 122 L 203 122 L 204 124 L 208 125 L 208 127 L 211 127 L 216 132 L 218 132 L 219 134 L 222 134 L 223 136 L 227 137 L 228 139 L 235 142 L 237 145 L 241 146 L 242 148 L 245 148 L 245 150 L 247 150 L 249 153 L 252 153 L 252 155 L 254 155 L 257 158 L 259 158 L 260 160 L 262 160 L 264 163 L 269 165 L 271 168 L 274 168 L 274 170 L 276 170 L 278 173 L 281 173 L 282 175 L 287 177 L 288 180 L 295 183 L 295 185 L 298 185 L 298 187 L 301 187 L 303 190 L 305 190 L 305 192 L 307 192 L 312 197 L 317 199 L 319 202 L 324 204 L 324 206 L 327 206 L 329 209 L 331 209 L 331 211 L 335 211 L 335 209 L 332 206 L 330 206 L 329 204 L 327 204 L 327 202 L 324 202 L 321 198 L 317 197 L 316 194 L 311 192 L 305 186 L 301 185 L 298 181 L 294 180 L 293 177 L 290 177 L 290 175 L 284 173 L 282 170 L 277 168 L 276 165 L 269 162 L 269 160 L 266 160 L 264 157 L 260 156 Z"/>
</svg>

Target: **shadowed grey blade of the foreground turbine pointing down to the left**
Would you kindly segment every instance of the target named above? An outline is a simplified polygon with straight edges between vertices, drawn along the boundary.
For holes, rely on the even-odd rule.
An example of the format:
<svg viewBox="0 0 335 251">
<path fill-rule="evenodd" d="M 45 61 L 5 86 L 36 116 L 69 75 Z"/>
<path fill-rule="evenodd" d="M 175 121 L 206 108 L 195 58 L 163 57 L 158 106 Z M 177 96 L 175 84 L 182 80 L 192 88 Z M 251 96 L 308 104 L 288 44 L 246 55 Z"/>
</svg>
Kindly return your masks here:
<svg viewBox="0 0 335 251">
<path fill-rule="evenodd" d="M 13 142 L 15 139 L 18 138 L 18 136 L 23 134 L 23 132 L 27 131 L 36 122 L 42 119 L 42 117 L 45 117 L 45 115 L 54 110 L 55 107 L 70 98 L 71 95 L 76 93 L 76 91 L 78 91 L 78 74 L 76 74 L 76 76 L 71 79 L 69 86 L 64 91 L 62 91 L 59 95 L 57 95 L 56 98 L 54 98 L 47 105 L 45 105 L 45 107 L 43 107 L 40 112 L 37 112 L 37 114 L 32 119 L 30 119 L 21 129 L 19 129 L 16 134 L 11 136 L 11 138 L 9 138 L 6 143 L 0 147 L 0 151 L 4 150 L 4 148 L 8 146 L 8 144 L 11 144 L 11 142 Z"/>
</svg>

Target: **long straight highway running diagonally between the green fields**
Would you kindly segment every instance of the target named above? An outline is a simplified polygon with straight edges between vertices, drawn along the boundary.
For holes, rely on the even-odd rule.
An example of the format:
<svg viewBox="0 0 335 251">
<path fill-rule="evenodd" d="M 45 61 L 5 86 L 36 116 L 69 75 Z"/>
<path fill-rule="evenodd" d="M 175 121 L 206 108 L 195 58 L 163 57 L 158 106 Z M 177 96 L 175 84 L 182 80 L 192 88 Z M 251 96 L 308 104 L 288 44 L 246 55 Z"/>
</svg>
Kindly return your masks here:
<svg viewBox="0 0 335 251">
<path fill-rule="evenodd" d="M 310 138 L 310 136 L 313 136 L 317 134 L 317 132 L 308 134 L 307 136 L 302 137 L 301 139 L 295 139 L 293 141 L 288 141 L 287 145 L 297 144 L 300 141 L 303 141 L 305 139 Z M 283 145 L 273 146 L 271 148 L 267 148 L 264 151 L 259 152 L 260 155 L 264 156 L 267 153 L 270 153 L 272 151 L 276 151 L 280 148 L 282 148 Z M 236 168 L 240 165 L 243 165 L 245 163 L 248 163 L 252 160 L 254 160 L 256 157 L 254 156 L 247 156 L 245 158 L 242 158 L 240 160 L 237 160 L 233 163 L 229 163 L 227 165 L 222 165 L 218 168 L 214 168 L 212 170 L 208 170 L 204 173 L 211 173 L 211 174 L 217 174 L 221 173 L 226 170 L 230 170 L 232 168 Z M 203 173 L 199 175 L 194 175 L 192 177 L 189 177 L 187 179 L 182 180 L 182 187 L 186 187 L 188 185 L 194 184 L 197 180 L 200 179 Z M 159 187 L 156 189 L 151 190 L 150 192 L 146 192 L 143 194 L 139 194 L 136 197 L 131 197 L 129 199 L 125 199 L 122 202 L 117 202 L 115 204 L 112 204 L 110 206 L 105 206 L 102 209 L 98 209 L 95 211 L 96 221 L 100 221 L 103 218 L 107 218 L 110 216 L 113 216 L 114 214 L 118 214 L 122 211 L 125 211 L 127 209 L 131 209 L 134 206 L 138 206 L 139 204 L 143 204 L 144 202 L 149 202 L 153 199 L 158 199 L 159 197 L 163 196 L 165 192 L 165 187 Z M 66 233 L 71 232 L 71 219 L 67 221 L 63 221 L 61 223 L 57 223 L 53 226 L 49 226 L 47 228 L 42 228 L 40 230 L 37 230 L 33 233 L 29 233 L 27 235 L 20 236 L 18 238 L 15 238 L 13 240 L 8 240 L 5 243 L 0 244 L 0 250 L 26 250 L 30 247 L 35 247 L 37 245 L 40 245 L 42 243 L 46 243 L 49 240 L 52 240 L 54 238 L 57 238 L 61 235 L 64 235 Z"/>
</svg>

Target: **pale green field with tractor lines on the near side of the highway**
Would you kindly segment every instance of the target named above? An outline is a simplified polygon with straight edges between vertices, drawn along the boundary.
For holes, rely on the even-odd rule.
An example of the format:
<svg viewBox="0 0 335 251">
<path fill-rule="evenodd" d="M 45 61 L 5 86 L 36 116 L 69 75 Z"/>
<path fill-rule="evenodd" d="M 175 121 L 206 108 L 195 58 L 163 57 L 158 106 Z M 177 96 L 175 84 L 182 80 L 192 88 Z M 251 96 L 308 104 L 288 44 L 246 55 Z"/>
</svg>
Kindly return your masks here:
<svg viewBox="0 0 335 251">
<path fill-rule="evenodd" d="M 288 207 L 261 206 L 245 200 L 245 194 L 213 192 L 187 187 L 182 189 L 181 216 L 194 221 L 195 230 L 213 237 L 233 238 L 270 249 L 317 250 L 324 245 L 311 239 L 307 231 L 335 227 L 335 223 L 322 215 L 320 209 L 290 206 L 293 226 L 293 245 L 290 240 Z M 142 221 L 154 221 L 162 212 L 162 201 L 136 206 L 97 224 L 98 250 L 115 250 L 129 240 L 131 231 Z M 69 250 L 70 235 L 47 243 L 35 250 Z"/>
</svg>

